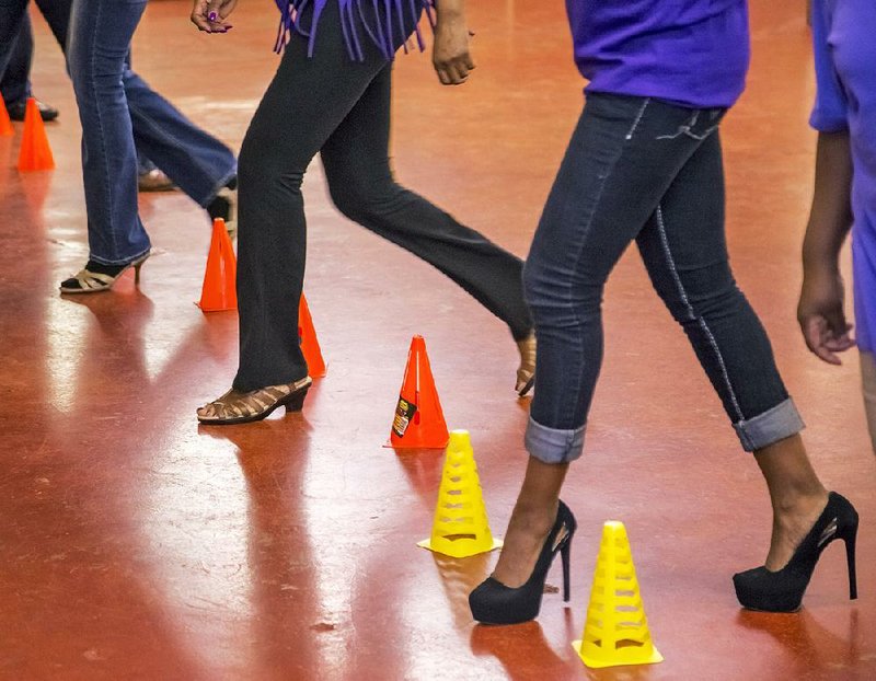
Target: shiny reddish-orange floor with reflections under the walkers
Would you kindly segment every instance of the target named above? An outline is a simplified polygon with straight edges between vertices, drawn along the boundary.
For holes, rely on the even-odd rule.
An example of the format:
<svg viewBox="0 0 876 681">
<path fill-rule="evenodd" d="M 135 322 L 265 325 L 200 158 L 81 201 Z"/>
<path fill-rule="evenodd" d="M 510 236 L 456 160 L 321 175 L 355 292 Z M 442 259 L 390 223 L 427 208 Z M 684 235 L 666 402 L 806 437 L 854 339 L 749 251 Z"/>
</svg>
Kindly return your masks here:
<svg viewBox="0 0 876 681">
<path fill-rule="evenodd" d="M 249 2 L 203 36 L 153 2 L 135 65 L 238 148 L 276 58 L 276 11 Z M 57 170 L 14 170 L 0 138 L 0 678 L 319 680 L 860 680 L 876 678 L 876 459 L 857 362 L 820 363 L 795 322 L 812 175 L 808 33 L 798 4 L 752 2 L 749 89 L 724 125 L 737 277 L 761 313 L 826 484 L 857 505 L 861 598 L 831 546 L 797 614 L 741 611 L 730 576 L 761 563 L 770 509 L 682 333 L 634 253 L 606 297 L 607 357 L 585 459 L 573 599 L 537 622 L 475 626 L 465 597 L 494 555 L 449 559 L 428 534 L 441 452 L 383 448 L 411 336 L 426 337 L 451 427 L 468 428 L 493 530 L 525 463 L 528 404 L 503 325 L 429 267 L 344 220 L 315 163 L 307 292 L 328 374 L 303 414 L 224 429 L 194 409 L 235 368 L 234 313 L 203 314 L 209 226 L 143 196 L 157 255 L 139 289 L 62 299 L 87 257 L 79 128 L 60 53 L 36 19 L 34 82 L 61 116 Z M 477 0 L 479 69 L 441 89 L 399 60 L 401 180 L 525 255 L 581 106 L 561 2 Z M 295 125 L 295 122 L 290 122 Z M 625 522 L 666 661 L 599 672 L 580 634 L 601 524 Z M 550 581 L 557 584 L 558 566 Z"/>
</svg>

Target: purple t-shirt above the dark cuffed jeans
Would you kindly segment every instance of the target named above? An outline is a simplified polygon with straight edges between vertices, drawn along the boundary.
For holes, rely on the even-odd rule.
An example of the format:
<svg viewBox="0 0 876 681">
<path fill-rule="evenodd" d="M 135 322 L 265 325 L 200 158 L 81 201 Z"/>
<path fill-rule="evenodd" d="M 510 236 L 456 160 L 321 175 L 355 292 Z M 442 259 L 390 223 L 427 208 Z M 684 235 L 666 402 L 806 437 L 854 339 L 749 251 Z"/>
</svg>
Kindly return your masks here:
<svg viewBox="0 0 876 681">
<path fill-rule="evenodd" d="M 745 89 L 747 0 L 566 0 L 566 10 L 587 92 L 708 108 Z"/>
</svg>

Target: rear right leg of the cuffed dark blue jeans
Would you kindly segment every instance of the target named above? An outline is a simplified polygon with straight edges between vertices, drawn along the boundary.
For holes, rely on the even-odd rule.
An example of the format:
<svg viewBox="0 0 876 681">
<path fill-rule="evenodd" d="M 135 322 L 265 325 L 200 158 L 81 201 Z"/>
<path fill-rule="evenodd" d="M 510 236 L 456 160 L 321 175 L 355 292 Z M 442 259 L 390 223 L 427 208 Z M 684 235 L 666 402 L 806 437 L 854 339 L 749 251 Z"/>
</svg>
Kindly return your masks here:
<svg viewBox="0 0 876 681">
<path fill-rule="evenodd" d="M 736 285 L 724 234 L 717 130 L 684 164 L 636 238 L 655 290 L 681 325 L 744 449 L 803 428 L 770 338 Z"/>
</svg>

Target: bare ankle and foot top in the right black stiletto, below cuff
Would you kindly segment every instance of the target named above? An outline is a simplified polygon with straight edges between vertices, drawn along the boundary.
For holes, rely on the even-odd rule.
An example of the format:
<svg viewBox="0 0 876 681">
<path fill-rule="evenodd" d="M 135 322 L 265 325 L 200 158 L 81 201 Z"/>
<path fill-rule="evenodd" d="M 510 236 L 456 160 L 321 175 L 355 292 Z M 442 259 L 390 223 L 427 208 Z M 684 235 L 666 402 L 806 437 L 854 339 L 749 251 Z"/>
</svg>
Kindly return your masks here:
<svg viewBox="0 0 876 681">
<path fill-rule="evenodd" d="M 782 569 L 828 503 L 799 435 L 754 451 L 770 489 L 773 535 L 765 567 Z"/>
</svg>

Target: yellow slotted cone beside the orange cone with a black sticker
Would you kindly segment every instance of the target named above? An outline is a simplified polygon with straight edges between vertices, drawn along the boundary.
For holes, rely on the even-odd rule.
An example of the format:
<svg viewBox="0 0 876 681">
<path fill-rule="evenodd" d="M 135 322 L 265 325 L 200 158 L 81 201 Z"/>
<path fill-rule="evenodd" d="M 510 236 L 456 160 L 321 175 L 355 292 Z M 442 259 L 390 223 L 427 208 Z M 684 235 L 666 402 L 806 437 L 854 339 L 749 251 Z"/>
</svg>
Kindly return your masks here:
<svg viewBox="0 0 876 681">
<path fill-rule="evenodd" d="M 454 558 L 465 558 L 502 546 L 493 539 L 468 430 L 453 430 L 447 445 L 445 470 L 431 536 L 417 546 Z"/>
</svg>

